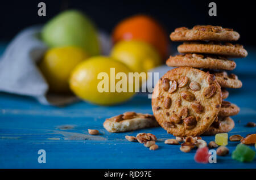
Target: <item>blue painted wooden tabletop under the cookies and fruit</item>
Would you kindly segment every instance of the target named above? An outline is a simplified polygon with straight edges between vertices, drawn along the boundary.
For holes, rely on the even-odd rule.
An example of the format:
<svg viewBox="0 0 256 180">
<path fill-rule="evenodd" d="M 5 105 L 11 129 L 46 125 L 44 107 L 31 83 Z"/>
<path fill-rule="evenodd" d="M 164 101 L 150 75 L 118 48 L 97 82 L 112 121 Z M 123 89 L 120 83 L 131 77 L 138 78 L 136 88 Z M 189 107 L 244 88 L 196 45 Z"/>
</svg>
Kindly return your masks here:
<svg viewBox="0 0 256 180">
<path fill-rule="evenodd" d="M 5 45 L 0 44 L 0 53 Z M 233 117 L 236 127 L 230 135 L 252 134 L 256 127 L 246 127 L 256 122 L 256 49 L 249 56 L 237 59 L 234 71 L 243 82 L 241 89 L 230 89 L 228 101 L 241 108 Z M 1 83 L 1 82 L 0 82 Z M 97 106 L 77 102 L 62 108 L 40 105 L 30 97 L 0 93 L 0 168 L 256 168 L 256 158 L 251 163 L 241 163 L 228 156 L 217 156 L 216 164 L 197 164 L 189 153 L 179 150 L 179 145 L 164 144 L 174 138 L 161 127 L 113 134 L 104 129 L 105 118 L 127 111 L 152 113 L 151 100 L 137 95 L 118 106 Z M 87 129 L 97 129 L 99 136 L 89 135 Z M 159 139 L 159 149 L 150 151 L 142 144 L 128 142 L 125 135 L 151 132 Z M 214 136 L 203 136 L 208 143 Z M 229 142 L 230 152 L 237 143 Z M 251 146 L 252 149 L 255 148 Z M 46 163 L 38 163 L 38 151 L 46 151 Z"/>
</svg>

